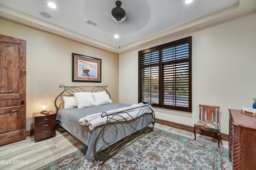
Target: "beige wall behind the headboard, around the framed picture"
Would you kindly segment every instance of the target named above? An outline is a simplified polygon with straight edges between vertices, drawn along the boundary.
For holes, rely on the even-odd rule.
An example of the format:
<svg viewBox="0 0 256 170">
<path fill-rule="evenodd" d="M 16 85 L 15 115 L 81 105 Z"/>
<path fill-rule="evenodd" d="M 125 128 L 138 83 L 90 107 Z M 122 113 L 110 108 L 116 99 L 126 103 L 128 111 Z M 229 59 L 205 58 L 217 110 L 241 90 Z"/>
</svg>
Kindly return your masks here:
<svg viewBox="0 0 256 170">
<path fill-rule="evenodd" d="M 33 129 L 33 113 L 41 101 L 56 111 L 54 100 L 65 86 L 105 86 L 111 99 L 118 102 L 118 54 L 65 39 L 0 18 L 0 33 L 27 42 L 26 129 Z M 102 82 L 72 82 L 72 53 L 102 59 Z"/>
</svg>

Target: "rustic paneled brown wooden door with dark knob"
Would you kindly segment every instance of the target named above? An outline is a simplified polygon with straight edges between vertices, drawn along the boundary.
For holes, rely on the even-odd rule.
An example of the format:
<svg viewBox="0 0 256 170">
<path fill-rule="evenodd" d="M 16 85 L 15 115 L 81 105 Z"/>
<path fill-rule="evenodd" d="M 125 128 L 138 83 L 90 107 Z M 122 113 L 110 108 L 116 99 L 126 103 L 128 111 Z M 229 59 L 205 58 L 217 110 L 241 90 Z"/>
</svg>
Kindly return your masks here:
<svg viewBox="0 0 256 170">
<path fill-rule="evenodd" d="M 0 146 L 26 139 L 26 41 L 0 34 Z"/>
</svg>

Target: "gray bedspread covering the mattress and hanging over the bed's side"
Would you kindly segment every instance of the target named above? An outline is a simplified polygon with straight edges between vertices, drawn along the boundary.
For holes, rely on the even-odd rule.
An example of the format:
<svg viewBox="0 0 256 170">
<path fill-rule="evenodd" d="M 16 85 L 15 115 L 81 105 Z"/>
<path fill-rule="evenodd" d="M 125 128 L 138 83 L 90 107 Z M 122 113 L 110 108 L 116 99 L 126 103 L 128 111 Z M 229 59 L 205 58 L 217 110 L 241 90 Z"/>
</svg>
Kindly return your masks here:
<svg viewBox="0 0 256 170">
<path fill-rule="evenodd" d="M 94 158 L 94 143 L 96 140 L 96 137 L 100 133 L 102 127 L 104 125 L 100 125 L 96 128 L 94 128 L 93 131 L 91 131 L 88 126 L 80 125 L 78 120 L 85 117 L 86 115 L 94 114 L 94 113 L 100 113 L 104 111 L 109 111 L 113 109 L 119 109 L 122 107 L 128 107 L 130 105 L 127 104 L 120 104 L 120 103 L 115 103 L 112 102 L 111 104 L 105 104 L 105 105 L 100 105 L 100 106 L 93 106 L 93 107 L 86 107 L 83 109 L 77 109 L 77 108 L 72 108 L 72 109 L 60 109 L 57 113 L 56 120 L 60 121 L 60 125 L 72 133 L 75 137 L 79 135 L 80 137 L 77 137 L 78 139 L 83 139 L 83 143 L 88 146 L 88 150 L 86 153 L 86 159 L 91 160 Z M 145 118 L 146 117 L 146 118 Z M 142 129 L 143 127 L 149 125 L 147 122 L 152 122 L 153 121 L 153 116 L 152 115 L 142 115 L 138 117 L 138 121 L 136 121 L 136 124 L 134 124 L 134 127 L 136 129 Z M 68 130 L 70 129 L 70 130 Z M 118 129 L 118 130 L 117 130 Z M 118 131 L 118 133 L 116 133 Z M 96 146 L 96 151 L 98 152 L 99 150 L 102 149 L 102 146 L 104 146 L 106 143 L 103 142 L 102 138 L 106 142 L 110 142 L 111 144 L 116 143 L 120 139 L 126 137 L 127 135 L 130 135 L 131 133 L 134 133 L 134 129 L 131 129 L 129 123 L 113 123 L 112 125 L 109 125 L 107 127 L 107 130 L 104 133 L 104 137 L 100 137 L 97 146 Z M 116 137 L 116 134 L 118 135 Z M 114 140 L 113 140 L 114 139 Z"/>
</svg>

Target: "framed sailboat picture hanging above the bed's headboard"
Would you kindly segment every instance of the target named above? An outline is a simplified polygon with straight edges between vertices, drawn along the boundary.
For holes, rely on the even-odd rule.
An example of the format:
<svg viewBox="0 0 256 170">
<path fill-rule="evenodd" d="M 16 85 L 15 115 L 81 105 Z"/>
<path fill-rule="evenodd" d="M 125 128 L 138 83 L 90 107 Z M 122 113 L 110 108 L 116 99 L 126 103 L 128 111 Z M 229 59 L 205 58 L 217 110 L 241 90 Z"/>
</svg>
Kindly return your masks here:
<svg viewBox="0 0 256 170">
<path fill-rule="evenodd" d="M 101 82 L 101 59 L 72 53 L 72 82 Z"/>
</svg>

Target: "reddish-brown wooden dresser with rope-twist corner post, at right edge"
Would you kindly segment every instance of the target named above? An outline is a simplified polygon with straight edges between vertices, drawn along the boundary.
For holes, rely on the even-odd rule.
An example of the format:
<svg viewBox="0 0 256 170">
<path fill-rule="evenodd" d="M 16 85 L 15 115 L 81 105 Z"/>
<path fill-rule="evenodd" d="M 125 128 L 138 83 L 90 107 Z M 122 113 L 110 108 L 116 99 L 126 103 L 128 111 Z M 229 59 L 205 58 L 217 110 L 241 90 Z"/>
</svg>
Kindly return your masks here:
<svg viewBox="0 0 256 170">
<path fill-rule="evenodd" d="M 233 170 L 256 168 L 256 116 L 229 110 L 229 159 Z"/>
</svg>

